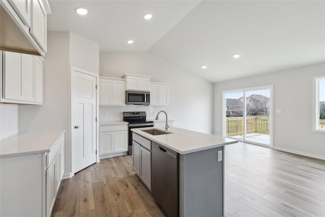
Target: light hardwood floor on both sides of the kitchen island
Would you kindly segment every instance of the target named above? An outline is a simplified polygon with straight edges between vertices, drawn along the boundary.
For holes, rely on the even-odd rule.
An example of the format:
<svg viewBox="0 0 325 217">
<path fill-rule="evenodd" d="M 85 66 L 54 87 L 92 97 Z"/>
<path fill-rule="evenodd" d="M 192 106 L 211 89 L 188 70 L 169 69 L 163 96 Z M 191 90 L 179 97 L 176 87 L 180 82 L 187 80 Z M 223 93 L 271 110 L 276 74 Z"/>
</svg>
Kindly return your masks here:
<svg viewBox="0 0 325 217">
<path fill-rule="evenodd" d="M 325 216 L 324 161 L 241 142 L 224 160 L 225 216 Z M 62 180 L 52 216 L 164 214 L 122 156 Z"/>
</svg>

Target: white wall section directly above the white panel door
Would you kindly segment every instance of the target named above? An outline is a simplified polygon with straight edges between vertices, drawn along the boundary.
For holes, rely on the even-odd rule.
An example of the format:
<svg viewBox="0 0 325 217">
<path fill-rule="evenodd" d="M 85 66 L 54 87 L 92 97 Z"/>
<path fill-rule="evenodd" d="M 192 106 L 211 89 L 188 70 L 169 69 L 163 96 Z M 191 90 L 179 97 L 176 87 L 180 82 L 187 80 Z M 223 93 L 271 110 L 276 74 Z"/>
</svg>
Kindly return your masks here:
<svg viewBox="0 0 325 217">
<path fill-rule="evenodd" d="M 70 65 L 99 74 L 98 42 L 70 33 Z"/>
</svg>

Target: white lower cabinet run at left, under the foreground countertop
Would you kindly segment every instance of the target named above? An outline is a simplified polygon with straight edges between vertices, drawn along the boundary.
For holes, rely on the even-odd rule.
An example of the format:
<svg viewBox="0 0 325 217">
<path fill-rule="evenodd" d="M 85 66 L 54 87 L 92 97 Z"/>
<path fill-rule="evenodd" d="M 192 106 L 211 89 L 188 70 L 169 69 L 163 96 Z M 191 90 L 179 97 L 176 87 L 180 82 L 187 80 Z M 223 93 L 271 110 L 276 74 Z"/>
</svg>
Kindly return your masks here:
<svg viewBox="0 0 325 217">
<path fill-rule="evenodd" d="M 47 153 L 0 158 L 0 216 L 51 216 L 64 168 L 64 134 Z"/>
</svg>

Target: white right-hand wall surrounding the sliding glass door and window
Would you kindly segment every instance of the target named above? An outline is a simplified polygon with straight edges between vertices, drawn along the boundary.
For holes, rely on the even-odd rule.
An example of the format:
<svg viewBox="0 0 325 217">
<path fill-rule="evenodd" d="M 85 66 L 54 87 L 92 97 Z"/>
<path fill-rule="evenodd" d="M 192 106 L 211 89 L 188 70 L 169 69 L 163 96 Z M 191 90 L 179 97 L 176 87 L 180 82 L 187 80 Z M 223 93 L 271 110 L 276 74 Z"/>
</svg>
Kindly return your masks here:
<svg viewBox="0 0 325 217">
<path fill-rule="evenodd" d="M 214 133 L 222 134 L 222 90 L 274 84 L 274 148 L 325 159 L 325 133 L 312 131 L 313 76 L 325 64 L 214 84 Z M 219 130 L 217 130 L 219 129 Z"/>
</svg>

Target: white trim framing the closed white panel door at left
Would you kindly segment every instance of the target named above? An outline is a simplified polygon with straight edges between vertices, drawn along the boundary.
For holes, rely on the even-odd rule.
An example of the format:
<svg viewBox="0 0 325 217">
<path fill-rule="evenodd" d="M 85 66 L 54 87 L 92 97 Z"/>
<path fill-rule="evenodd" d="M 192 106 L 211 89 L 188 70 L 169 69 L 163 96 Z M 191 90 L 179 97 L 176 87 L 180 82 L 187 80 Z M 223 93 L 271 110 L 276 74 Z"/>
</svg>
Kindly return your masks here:
<svg viewBox="0 0 325 217">
<path fill-rule="evenodd" d="M 95 77 L 96 79 L 96 163 L 100 162 L 99 159 L 99 121 L 98 121 L 98 114 L 99 114 L 99 88 L 98 88 L 98 83 L 99 83 L 99 75 L 83 70 L 83 69 L 79 69 L 77 67 L 74 66 L 70 66 L 70 177 L 74 176 L 73 170 L 72 170 L 72 131 L 73 131 L 73 126 L 72 126 L 72 121 L 73 121 L 73 109 L 74 109 L 74 105 L 73 105 L 73 81 L 72 81 L 72 74 L 74 71 L 86 74 L 86 75 L 90 75 Z"/>
</svg>

